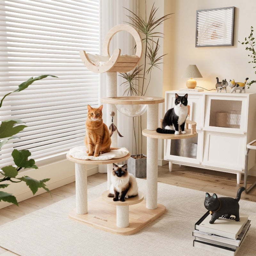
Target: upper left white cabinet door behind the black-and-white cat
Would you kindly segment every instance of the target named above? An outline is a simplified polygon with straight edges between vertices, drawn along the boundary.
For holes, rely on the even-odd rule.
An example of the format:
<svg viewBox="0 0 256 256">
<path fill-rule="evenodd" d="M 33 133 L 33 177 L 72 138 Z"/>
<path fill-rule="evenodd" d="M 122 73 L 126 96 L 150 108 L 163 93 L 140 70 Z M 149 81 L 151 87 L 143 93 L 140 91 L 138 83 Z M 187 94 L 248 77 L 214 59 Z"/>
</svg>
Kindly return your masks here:
<svg viewBox="0 0 256 256">
<path fill-rule="evenodd" d="M 186 92 L 177 92 L 179 95 L 185 95 Z M 165 113 L 168 109 L 174 107 L 175 92 L 166 93 Z M 196 130 L 202 130 L 204 124 L 204 95 L 189 94 L 188 105 L 190 109 L 189 120 L 196 122 Z"/>
</svg>

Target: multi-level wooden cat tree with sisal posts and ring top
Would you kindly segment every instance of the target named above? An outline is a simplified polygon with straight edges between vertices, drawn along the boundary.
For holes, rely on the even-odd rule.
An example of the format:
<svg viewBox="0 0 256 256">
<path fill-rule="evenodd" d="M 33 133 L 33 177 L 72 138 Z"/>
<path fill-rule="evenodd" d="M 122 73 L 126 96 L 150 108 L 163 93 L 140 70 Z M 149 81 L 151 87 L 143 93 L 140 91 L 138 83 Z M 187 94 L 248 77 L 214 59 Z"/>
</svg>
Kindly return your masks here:
<svg viewBox="0 0 256 256">
<path fill-rule="evenodd" d="M 136 42 L 135 56 L 120 55 L 121 50 L 115 49 L 113 54 L 109 54 L 109 44 L 111 38 L 119 31 L 124 30 L 132 34 Z M 113 163 L 122 162 L 130 157 L 130 153 L 119 159 L 106 161 L 79 160 L 67 154 L 68 160 L 76 163 L 76 209 L 69 213 L 69 217 L 102 230 L 130 235 L 139 231 L 153 220 L 156 220 L 165 212 L 165 206 L 157 203 L 157 153 L 158 139 L 182 139 L 196 136 L 195 125 L 191 130 L 186 130 L 186 134 L 160 134 L 156 132 L 158 127 L 158 104 L 164 102 L 160 97 L 117 97 L 117 72 L 129 72 L 135 68 L 142 56 L 142 40 L 139 33 L 130 25 L 120 24 L 111 28 L 103 43 L 103 54 L 109 56 L 109 60 L 102 66 L 94 65 L 87 53 L 80 51 L 81 59 L 86 68 L 96 73 L 105 73 L 107 76 L 107 97 L 100 99 L 102 103 L 107 103 L 107 113 L 114 111 L 114 123 L 117 125 L 117 110 L 115 104 L 120 105 L 142 105 L 147 104 L 147 129 L 143 130 L 143 135 L 147 136 L 147 200 L 141 192 L 134 198 L 127 198 L 124 202 L 114 202 L 108 198 L 108 191 L 101 197 L 87 202 L 87 172 L 86 164 L 108 164 L 108 189 L 110 187 L 110 174 Z M 107 125 L 110 125 L 110 118 Z M 186 126 L 188 129 L 188 126 Z M 117 134 L 111 137 L 112 147 L 117 147 Z M 146 201 L 146 202 L 145 202 Z M 130 205 L 130 209 L 129 209 Z M 136 218 L 130 218 L 136 216 Z M 145 214 L 146 213 L 146 214 Z M 130 222 L 130 224 L 129 224 Z"/>
</svg>

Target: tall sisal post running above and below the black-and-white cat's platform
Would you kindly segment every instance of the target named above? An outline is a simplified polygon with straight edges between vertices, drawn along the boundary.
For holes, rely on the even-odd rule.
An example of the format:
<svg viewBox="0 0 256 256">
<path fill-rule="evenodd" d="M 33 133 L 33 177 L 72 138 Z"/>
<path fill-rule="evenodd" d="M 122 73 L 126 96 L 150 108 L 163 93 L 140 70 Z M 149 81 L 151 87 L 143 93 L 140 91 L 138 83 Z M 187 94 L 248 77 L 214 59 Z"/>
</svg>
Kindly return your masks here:
<svg viewBox="0 0 256 256">
<path fill-rule="evenodd" d="M 148 105 L 147 129 L 158 127 L 158 104 Z M 147 208 L 157 208 L 157 154 L 158 140 L 147 137 Z"/>
</svg>

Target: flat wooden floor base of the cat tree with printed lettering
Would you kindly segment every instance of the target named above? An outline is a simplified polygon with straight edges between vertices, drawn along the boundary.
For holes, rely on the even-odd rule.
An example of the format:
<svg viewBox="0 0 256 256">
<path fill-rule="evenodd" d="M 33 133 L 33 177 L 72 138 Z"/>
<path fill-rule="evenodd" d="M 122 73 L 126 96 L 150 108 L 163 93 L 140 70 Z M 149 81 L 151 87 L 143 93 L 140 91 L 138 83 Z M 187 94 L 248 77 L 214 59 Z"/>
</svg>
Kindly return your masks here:
<svg viewBox="0 0 256 256">
<path fill-rule="evenodd" d="M 104 196 L 104 193 L 102 196 Z M 109 233 L 127 236 L 138 232 L 140 229 L 144 228 L 149 223 L 164 214 L 166 210 L 162 204 L 157 204 L 156 209 L 147 209 L 146 200 L 143 200 L 142 197 L 142 201 L 140 203 L 128 206 L 128 227 L 119 228 L 117 226 L 117 205 L 109 203 L 107 200 L 103 199 L 102 196 L 88 202 L 87 214 L 77 214 L 76 209 L 74 209 L 69 212 L 69 218 Z M 113 198 L 108 199 L 115 203 Z M 125 199 L 125 202 L 117 202 L 129 204 L 130 199 L 132 198 Z M 125 205 L 121 207 L 125 207 Z"/>
</svg>

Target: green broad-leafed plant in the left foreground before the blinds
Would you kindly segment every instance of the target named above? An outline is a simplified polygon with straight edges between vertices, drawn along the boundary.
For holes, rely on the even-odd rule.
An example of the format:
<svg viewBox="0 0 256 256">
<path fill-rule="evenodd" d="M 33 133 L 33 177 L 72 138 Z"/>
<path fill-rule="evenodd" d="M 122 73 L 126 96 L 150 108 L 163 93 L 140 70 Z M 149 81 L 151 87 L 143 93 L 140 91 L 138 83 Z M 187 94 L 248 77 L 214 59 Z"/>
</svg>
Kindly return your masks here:
<svg viewBox="0 0 256 256">
<path fill-rule="evenodd" d="M 20 84 L 18 86 L 18 89 L 13 92 L 23 91 L 34 81 L 43 79 L 47 76 L 52 76 L 52 75 L 42 75 L 42 76 L 37 76 L 37 77 L 30 77 L 27 81 Z M 57 77 L 57 76 L 52 76 L 52 77 Z M 6 96 L 10 95 L 11 93 L 12 92 L 9 92 L 6 95 L 4 95 L 4 97 L 0 101 L 0 108 L 2 107 L 4 98 Z M 17 134 L 18 132 L 22 131 L 24 128 L 27 127 L 26 125 L 24 125 L 22 123 L 23 122 L 20 119 L 9 119 L 9 120 L 2 121 L 2 123 L 0 125 L 0 149 L 9 140 L 20 138 L 18 136 L 13 136 L 13 135 Z M 22 176 L 19 178 L 17 177 L 18 172 L 21 169 L 26 169 L 26 168 L 38 169 L 38 167 L 35 165 L 35 160 L 28 159 L 29 156 L 31 156 L 31 153 L 29 152 L 29 150 L 14 149 L 12 151 L 12 158 L 13 158 L 13 162 L 16 165 L 16 167 L 12 166 L 12 165 L 8 165 L 8 166 L 4 166 L 1 168 L 2 172 L 0 172 L 0 173 L 3 175 L 3 178 L 0 178 L 0 188 L 6 188 L 10 185 L 10 184 L 4 183 L 5 181 L 10 181 L 13 183 L 18 183 L 18 182 L 24 181 L 24 182 L 26 182 L 27 186 L 32 191 L 33 195 L 36 194 L 38 188 L 44 188 L 47 192 L 50 193 L 50 190 L 48 188 L 46 188 L 46 185 L 45 185 L 45 182 L 50 179 L 35 180 L 28 176 Z M 0 201 L 2 201 L 2 200 L 5 202 L 9 202 L 9 203 L 18 205 L 18 202 L 17 202 L 17 199 L 15 196 L 13 196 L 10 193 L 0 190 Z"/>
</svg>

